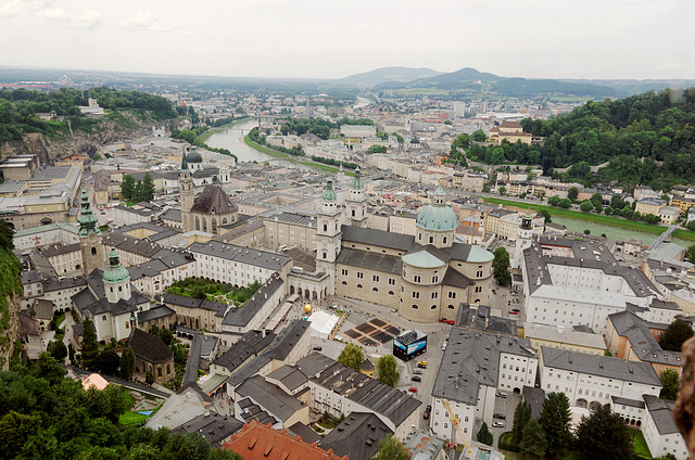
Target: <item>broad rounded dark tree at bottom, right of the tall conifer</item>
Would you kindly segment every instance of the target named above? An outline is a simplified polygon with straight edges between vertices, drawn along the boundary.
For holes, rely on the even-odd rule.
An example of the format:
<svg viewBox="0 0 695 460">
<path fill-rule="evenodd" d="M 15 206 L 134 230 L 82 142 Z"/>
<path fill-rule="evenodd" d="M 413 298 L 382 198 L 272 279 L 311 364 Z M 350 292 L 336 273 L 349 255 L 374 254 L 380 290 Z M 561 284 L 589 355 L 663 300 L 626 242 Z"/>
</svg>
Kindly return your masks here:
<svg viewBox="0 0 695 460">
<path fill-rule="evenodd" d="M 577 427 L 577 453 L 581 460 L 632 459 L 632 436 L 620 416 L 599 406 Z"/>
</svg>

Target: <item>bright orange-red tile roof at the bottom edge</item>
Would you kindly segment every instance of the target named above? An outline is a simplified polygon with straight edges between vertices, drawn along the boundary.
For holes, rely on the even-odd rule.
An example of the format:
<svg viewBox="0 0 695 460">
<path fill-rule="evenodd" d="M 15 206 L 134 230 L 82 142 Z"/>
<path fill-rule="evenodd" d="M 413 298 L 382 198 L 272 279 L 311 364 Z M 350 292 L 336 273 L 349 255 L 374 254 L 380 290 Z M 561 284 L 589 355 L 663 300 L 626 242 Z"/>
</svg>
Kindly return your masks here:
<svg viewBox="0 0 695 460">
<path fill-rule="evenodd" d="M 338 457 L 332 449 L 324 450 L 316 443 L 304 443 L 302 436 L 292 437 L 287 430 L 276 431 L 256 421 L 244 425 L 222 447 L 244 460 L 348 460 L 348 456 Z"/>
</svg>

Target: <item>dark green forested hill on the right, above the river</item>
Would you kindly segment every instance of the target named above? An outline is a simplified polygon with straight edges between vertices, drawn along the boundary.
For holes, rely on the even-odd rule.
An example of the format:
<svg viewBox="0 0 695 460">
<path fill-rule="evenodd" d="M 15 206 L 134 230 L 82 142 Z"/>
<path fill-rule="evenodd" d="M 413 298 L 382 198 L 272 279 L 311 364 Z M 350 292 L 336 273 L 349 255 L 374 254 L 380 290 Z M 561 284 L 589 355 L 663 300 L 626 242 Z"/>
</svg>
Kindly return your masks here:
<svg viewBox="0 0 695 460">
<path fill-rule="evenodd" d="M 543 145 L 472 145 L 468 156 L 485 163 L 571 166 L 563 176 L 585 184 L 617 180 L 627 188 L 695 183 L 695 88 L 647 92 L 615 101 L 587 102 L 567 115 L 523 119 Z M 610 164 L 592 175 L 590 165 Z"/>
</svg>

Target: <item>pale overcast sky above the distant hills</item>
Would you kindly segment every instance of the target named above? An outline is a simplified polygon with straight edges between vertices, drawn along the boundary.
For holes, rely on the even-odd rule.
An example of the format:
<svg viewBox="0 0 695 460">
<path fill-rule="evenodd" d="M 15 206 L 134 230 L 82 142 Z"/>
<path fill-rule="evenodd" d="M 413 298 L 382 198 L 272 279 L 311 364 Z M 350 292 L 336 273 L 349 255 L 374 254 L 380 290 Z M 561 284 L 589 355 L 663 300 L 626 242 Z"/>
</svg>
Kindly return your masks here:
<svg viewBox="0 0 695 460">
<path fill-rule="evenodd" d="M 0 64 L 340 78 L 695 78 L 693 0 L 0 0 Z"/>
</svg>

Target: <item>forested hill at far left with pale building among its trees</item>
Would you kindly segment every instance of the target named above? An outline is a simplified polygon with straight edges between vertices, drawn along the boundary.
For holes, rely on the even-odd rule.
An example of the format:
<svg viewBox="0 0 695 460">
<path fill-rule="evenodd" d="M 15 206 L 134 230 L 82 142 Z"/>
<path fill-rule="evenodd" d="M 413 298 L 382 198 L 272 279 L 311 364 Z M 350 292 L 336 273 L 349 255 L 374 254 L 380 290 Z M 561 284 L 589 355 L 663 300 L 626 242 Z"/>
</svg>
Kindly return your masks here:
<svg viewBox="0 0 695 460">
<path fill-rule="evenodd" d="M 134 128 L 134 124 L 124 118 L 118 113 L 119 110 L 128 110 L 141 119 L 164 120 L 177 116 L 166 99 L 138 91 L 116 91 L 105 87 L 85 91 L 63 88 L 48 93 L 3 89 L 0 90 L 0 142 L 21 141 L 24 135 L 30 132 L 61 139 L 68 133 L 67 120 L 74 131 L 89 131 L 98 122 L 86 118 L 77 108 L 79 105 L 88 105 L 89 94 L 97 99 L 101 107 L 109 110 L 109 119 L 121 123 L 126 128 Z M 37 116 L 51 111 L 63 117 L 63 120 L 42 122 Z"/>
</svg>

